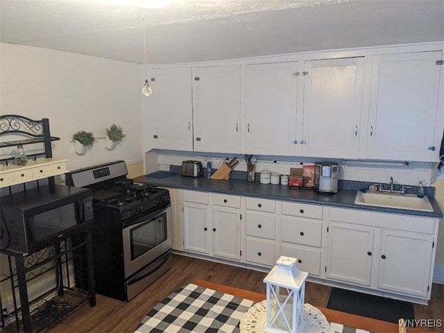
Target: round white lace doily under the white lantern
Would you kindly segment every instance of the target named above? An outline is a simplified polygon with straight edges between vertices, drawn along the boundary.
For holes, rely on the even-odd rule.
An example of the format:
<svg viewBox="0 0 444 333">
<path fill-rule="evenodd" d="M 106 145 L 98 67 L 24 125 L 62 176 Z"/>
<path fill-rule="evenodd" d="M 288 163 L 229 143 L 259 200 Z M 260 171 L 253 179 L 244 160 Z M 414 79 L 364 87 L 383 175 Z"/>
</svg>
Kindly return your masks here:
<svg viewBox="0 0 444 333">
<path fill-rule="evenodd" d="M 304 305 L 304 333 L 334 333 L 327 318 L 316 307 Z M 266 300 L 250 307 L 241 318 L 241 333 L 262 333 L 266 327 Z"/>
</svg>

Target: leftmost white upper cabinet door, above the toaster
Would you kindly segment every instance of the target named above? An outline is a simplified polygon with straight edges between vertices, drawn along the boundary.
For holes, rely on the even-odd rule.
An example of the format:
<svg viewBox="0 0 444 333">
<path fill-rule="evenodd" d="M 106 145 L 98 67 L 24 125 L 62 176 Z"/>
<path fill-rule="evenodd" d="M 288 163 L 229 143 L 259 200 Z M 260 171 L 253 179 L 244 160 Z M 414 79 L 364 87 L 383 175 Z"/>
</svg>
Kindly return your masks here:
<svg viewBox="0 0 444 333">
<path fill-rule="evenodd" d="M 193 150 L 191 67 L 153 69 L 153 94 L 144 99 L 142 124 L 153 123 L 150 135 L 155 148 Z"/>
</svg>

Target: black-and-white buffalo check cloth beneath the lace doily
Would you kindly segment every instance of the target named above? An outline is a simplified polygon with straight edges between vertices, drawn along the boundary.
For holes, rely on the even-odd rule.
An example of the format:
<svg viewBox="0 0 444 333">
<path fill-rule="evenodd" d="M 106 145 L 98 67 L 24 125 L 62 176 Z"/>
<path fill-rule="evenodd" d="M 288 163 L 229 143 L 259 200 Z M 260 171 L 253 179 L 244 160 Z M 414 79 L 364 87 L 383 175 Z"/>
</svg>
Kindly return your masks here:
<svg viewBox="0 0 444 333">
<path fill-rule="evenodd" d="M 188 284 L 155 305 L 135 333 L 237 333 L 242 316 L 254 305 L 228 293 Z M 332 323 L 335 333 L 368 333 Z"/>
</svg>

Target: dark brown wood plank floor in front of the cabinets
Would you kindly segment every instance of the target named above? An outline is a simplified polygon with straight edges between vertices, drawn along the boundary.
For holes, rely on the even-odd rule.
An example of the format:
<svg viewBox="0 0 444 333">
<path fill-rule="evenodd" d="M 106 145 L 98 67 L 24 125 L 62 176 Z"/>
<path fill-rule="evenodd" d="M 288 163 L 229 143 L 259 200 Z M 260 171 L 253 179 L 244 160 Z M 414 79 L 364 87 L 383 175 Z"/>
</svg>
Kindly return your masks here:
<svg viewBox="0 0 444 333">
<path fill-rule="evenodd" d="M 264 280 L 266 273 L 252 271 L 225 264 L 207 262 L 180 255 L 173 255 L 173 268 L 153 284 L 139 293 L 130 302 L 121 302 L 112 298 L 97 295 L 97 305 L 85 304 L 76 309 L 62 323 L 49 332 L 130 332 L 133 333 L 157 302 L 166 298 L 176 289 L 193 280 L 201 279 L 231 287 L 265 293 Z M 428 306 L 415 305 L 417 319 L 444 319 L 444 286 L 434 284 L 432 300 Z M 305 302 L 318 307 L 326 307 L 330 296 L 330 287 L 307 282 Z M 430 332 L 443 332 L 441 328 Z"/>
</svg>

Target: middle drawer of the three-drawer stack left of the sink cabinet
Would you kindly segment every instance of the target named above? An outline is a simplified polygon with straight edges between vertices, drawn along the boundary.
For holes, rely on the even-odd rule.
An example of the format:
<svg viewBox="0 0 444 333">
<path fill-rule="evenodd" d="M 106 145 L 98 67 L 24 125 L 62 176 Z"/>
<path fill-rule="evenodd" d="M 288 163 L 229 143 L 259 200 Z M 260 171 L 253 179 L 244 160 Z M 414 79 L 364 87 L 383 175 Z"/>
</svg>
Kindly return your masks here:
<svg viewBox="0 0 444 333">
<path fill-rule="evenodd" d="M 322 222 L 282 217 L 282 241 L 321 247 Z"/>
</svg>

